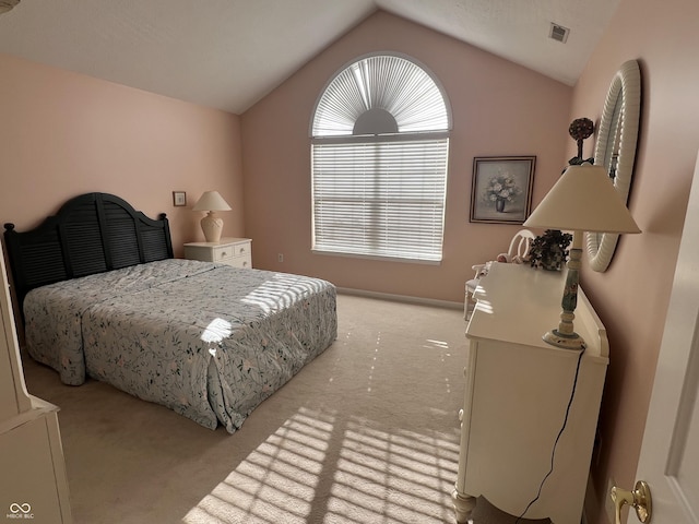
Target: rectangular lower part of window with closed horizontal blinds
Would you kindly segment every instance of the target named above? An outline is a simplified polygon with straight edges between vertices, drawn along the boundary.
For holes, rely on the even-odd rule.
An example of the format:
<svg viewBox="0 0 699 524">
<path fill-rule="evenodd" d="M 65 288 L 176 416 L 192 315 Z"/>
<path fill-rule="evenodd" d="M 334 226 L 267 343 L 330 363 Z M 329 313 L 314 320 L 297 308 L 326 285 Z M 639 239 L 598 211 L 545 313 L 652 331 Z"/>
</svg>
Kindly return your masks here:
<svg viewBox="0 0 699 524">
<path fill-rule="evenodd" d="M 312 249 L 441 261 L 449 139 L 312 144 Z"/>
</svg>

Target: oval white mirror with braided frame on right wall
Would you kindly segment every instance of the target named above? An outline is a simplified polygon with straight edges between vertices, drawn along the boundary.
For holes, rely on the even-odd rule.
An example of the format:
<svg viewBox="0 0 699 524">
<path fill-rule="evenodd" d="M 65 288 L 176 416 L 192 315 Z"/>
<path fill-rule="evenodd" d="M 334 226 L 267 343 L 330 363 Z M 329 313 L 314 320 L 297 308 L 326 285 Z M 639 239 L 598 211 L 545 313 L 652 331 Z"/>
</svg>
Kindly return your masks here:
<svg viewBox="0 0 699 524">
<path fill-rule="evenodd" d="M 620 105 L 619 105 L 620 104 Z M 617 111 L 617 105 L 618 111 Z M 631 189 L 633 163 L 636 160 L 636 145 L 638 142 L 639 120 L 641 112 L 641 72 L 636 60 L 624 62 L 612 79 L 612 84 L 604 103 L 602 118 L 597 129 L 597 143 L 594 152 L 594 164 L 609 166 L 605 159 L 608 151 L 619 133 L 616 172 L 614 186 L 626 204 Z M 615 114 L 620 121 L 615 121 Z M 609 266 L 618 234 L 588 233 L 587 248 L 590 266 L 597 272 L 604 272 Z"/>
</svg>

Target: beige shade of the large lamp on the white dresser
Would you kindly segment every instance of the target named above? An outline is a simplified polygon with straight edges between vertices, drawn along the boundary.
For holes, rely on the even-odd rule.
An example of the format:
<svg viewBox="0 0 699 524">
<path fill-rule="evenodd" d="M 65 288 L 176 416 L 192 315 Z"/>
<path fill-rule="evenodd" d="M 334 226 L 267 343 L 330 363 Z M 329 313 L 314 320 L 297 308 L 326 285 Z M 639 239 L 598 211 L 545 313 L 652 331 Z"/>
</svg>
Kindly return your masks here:
<svg viewBox="0 0 699 524">
<path fill-rule="evenodd" d="M 524 222 L 590 233 L 641 233 L 603 166 L 569 166 Z"/>
</svg>

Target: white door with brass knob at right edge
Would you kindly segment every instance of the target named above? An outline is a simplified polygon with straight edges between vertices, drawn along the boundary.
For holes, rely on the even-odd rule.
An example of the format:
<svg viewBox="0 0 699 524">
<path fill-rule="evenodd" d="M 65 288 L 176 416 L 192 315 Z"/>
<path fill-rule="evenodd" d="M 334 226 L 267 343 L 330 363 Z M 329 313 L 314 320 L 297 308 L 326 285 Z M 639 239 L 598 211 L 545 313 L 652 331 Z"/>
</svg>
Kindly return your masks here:
<svg viewBox="0 0 699 524">
<path fill-rule="evenodd" d="M 652 524 L 699 523 L 699 158 L 697 162 L 636 474 L 637 480 L 650 487 Z M 633 510 L 627 522 L 638 523 Z"/>
</svg>

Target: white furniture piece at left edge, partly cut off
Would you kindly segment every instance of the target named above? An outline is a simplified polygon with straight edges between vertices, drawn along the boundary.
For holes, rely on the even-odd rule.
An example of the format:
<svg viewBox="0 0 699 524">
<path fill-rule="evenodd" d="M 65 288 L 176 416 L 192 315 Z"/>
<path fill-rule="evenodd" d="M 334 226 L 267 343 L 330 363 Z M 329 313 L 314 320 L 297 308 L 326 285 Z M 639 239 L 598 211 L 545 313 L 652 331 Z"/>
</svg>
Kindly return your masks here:
<svg viewBox="0 0 699 524">
<path fill-rule="evenodd" d="M 58 407 L 27 393 L 0 249 L 0 517 L 72 522 Z"/>
</svg>

